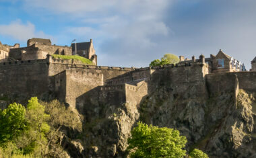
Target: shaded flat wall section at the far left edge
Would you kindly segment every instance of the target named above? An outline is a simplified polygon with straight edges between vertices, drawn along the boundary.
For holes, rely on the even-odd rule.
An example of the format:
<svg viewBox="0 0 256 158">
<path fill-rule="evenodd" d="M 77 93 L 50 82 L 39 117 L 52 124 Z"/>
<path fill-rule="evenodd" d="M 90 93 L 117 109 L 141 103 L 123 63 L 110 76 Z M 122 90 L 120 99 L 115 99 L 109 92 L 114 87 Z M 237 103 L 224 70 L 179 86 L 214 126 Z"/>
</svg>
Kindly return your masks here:
<svg viewBox="0 0 256 158">
<path fill-rule="evenodd" d="M 49 73 L 46 60 L 0 63 L 0 93 L 11 97 L 42 95 L 49 91 Z"/>
</svg>

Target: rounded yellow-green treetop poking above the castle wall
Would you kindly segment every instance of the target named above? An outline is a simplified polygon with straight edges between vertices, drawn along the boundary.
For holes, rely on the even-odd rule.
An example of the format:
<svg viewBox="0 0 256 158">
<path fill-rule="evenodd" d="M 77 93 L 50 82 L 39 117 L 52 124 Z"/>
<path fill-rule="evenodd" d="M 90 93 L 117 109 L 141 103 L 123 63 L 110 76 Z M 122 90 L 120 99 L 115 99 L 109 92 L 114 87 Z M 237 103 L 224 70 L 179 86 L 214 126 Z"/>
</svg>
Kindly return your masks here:
<svg viewBox="0 0 256 158">
<path fill-rule="evenodd" d="M 155 59 L 150 63 L 150 67 L 153 66 L 160 66 L 160 65 L 168 65 L 168 64 L 176 64 L 179 63 L 179 57 L 174 54 L 164 54 L 164 56 L 161 58 L 161 61 L 159 59 Z"/>
</svg>

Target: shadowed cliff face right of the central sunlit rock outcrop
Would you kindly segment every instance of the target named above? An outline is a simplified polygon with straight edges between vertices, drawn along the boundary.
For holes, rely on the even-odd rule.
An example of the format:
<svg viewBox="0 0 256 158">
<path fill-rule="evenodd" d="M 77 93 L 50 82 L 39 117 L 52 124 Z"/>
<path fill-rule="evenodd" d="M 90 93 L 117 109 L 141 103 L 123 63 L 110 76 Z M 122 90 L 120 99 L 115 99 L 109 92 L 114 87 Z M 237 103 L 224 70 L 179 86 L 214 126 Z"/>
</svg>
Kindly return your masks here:
<svg viewBox="0 0 256 158">
<path fill-rule="evenodd" d="M 254 93 L 240 90 L 218 93 L 206 100 L 191 99 L 193 88 L 174 96 L 160 89 L 141 105 L 141 120 L 177 128 L 187 136 L 187 149 L 205 151 L 210 157 L 255 157 Z"/>
</svg>

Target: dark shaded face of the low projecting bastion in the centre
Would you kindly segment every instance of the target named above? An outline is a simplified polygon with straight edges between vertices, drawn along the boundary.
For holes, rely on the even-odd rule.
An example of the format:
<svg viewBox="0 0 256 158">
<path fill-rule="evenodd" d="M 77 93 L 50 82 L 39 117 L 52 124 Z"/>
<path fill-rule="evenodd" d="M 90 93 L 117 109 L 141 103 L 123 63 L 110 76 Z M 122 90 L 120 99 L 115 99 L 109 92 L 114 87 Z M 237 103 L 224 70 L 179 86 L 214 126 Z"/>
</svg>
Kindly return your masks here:
<svg viewBox="0 0 256 158">
<path fill-rule="evenodd" d="M 84 114 L 86 121 L 92 118 L 106 118 L 113 110 L 125 104 L 125 85 L 98 86 L 75 99 L 75 108 Z M 104 111 L 108 112 L 104 112 Z"/>
</svg>

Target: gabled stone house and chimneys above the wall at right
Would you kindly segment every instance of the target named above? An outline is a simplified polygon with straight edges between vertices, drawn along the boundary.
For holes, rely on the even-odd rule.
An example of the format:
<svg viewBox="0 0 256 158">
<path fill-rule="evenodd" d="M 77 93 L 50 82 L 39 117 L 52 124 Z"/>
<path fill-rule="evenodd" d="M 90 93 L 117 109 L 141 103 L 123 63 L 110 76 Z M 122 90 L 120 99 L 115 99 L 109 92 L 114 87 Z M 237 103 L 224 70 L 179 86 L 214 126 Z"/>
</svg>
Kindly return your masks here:
<svg viewBox="0 0 256 158">
<path fill-rule="evenodd" d="M 204 58 L 204 56 L 201 56 Z M 200 59 L 195 59 L 195 56 L 192 56 L 192 60 L 184 58 L 184 56 L 180 56 L 180 63 L 191 63 L 197 62 Z M 245 65 L 240 61 L 237 61 L 233 57 L 225 54 L 220 50 L 218 54 L 210 55 L 210 58 L 204 58 L 205 63 L 209 65 L 210 73 L 222 73 L 222 72 L 238 72 L 238 71 L 246 71 Z M 255 59 L 256 60 L 256 59 Z M 255 61 L 256 62 L 256 61 Z M 256 68 L 255 68 L 256 69 Z"/>
</svg>

